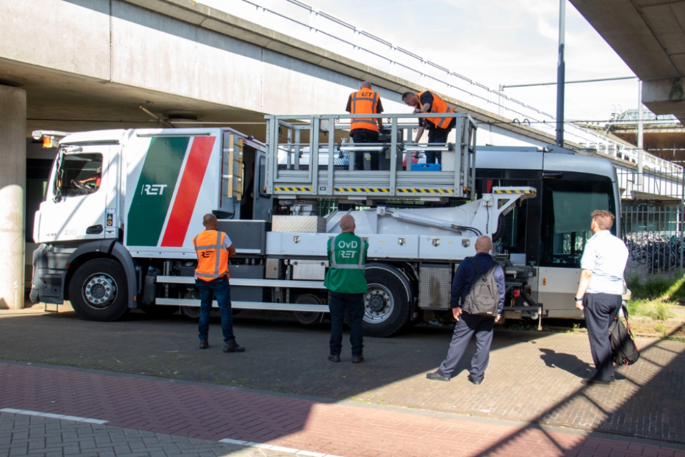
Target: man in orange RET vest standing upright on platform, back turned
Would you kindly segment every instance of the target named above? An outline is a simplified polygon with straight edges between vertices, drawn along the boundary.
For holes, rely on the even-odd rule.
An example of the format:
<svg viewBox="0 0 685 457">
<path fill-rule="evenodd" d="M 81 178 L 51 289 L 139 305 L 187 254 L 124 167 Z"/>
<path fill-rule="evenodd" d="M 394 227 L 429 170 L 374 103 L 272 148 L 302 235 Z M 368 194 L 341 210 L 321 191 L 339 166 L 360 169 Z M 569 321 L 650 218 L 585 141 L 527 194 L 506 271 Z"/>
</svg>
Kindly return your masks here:
<svg viewBox="0 0 685 457">
<path fill-rule="evenodd" d="M 352 92 L 347 99 L 349 114 L 381 114 L 383 105 L 378 92 L 371 88 L 368 81 L 362 82 L 357 92 Z M 354 143 L 378 143 L 379 129 L 383 129 L 383 120 L 373 118 L 353 118 L 349 129 L 349 136 Z M 378 169 L 378 152 L 371 152 L 371 169 Z M 354 153 L 354 169 L 364 169 L 364 151 Z"/>
</svg>

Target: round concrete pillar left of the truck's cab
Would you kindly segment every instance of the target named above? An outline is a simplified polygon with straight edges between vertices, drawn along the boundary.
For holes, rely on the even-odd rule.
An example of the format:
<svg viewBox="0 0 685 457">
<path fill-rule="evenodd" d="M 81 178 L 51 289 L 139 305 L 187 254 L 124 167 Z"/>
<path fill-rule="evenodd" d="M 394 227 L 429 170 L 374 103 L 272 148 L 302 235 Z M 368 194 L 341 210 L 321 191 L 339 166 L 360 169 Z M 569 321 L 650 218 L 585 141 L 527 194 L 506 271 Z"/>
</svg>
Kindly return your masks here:
<svg viewBox="0 0 685 457">
<path fill-rule="evenodd" d="M 0 85 L 0 308 L 24 307 L 26 91 Z"/>
</svg>

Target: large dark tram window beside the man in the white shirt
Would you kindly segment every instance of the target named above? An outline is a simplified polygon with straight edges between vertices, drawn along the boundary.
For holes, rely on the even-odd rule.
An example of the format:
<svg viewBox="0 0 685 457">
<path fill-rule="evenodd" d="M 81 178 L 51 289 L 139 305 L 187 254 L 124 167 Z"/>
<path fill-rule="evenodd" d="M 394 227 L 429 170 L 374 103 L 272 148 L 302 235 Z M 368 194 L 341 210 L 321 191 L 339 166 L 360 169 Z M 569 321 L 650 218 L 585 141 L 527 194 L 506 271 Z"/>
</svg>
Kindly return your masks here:
<svg viewBox="0 0 685 457">
<path fill-rule="evenodd" d="M 580 267 L 585 243 L 593 236 L 590 213 L 594 210 L 615 213 L 612 184 L 610 181 L 558 181 L 546 182 L 544 187 L 542 263 Z"/>
</svg>

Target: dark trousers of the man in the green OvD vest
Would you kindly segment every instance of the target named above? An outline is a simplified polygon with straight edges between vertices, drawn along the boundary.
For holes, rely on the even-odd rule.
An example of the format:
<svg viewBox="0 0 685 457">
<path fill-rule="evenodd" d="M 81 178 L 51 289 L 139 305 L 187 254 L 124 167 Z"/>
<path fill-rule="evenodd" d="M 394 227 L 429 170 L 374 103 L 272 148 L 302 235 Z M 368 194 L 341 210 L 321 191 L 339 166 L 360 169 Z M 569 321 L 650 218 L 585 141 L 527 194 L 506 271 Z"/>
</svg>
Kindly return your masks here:
<svg viewBox="0 0 685 457">
<path fill-rule="evenodd" d="M 328 308 L 331 312 L 331 354 L 339 356 L 343 351 L 343 321 L 345 310 L 349 313 L 349 343 L 352 346 L 352 357 L 362 355 L 364 338 L 362 323 L 364 322 L 364 294 L 329 292 Z"/>
</svg>

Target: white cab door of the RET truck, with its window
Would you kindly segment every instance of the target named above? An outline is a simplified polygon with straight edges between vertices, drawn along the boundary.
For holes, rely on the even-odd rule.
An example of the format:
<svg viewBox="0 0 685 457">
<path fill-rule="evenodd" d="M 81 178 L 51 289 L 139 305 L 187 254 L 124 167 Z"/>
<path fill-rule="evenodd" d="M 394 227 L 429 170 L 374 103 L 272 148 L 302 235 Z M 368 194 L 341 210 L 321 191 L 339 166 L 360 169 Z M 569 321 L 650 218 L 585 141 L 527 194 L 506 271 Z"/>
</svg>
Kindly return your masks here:
<svg viewBox="0 0 685 457">
<path fill-rule="evenodd" d="M 45 201 L 36 213 L 37 243 L 105 238 L 108 181 L 112 178 L 110 148 L 97 145 L 60 149 Z"/>
</svg>

